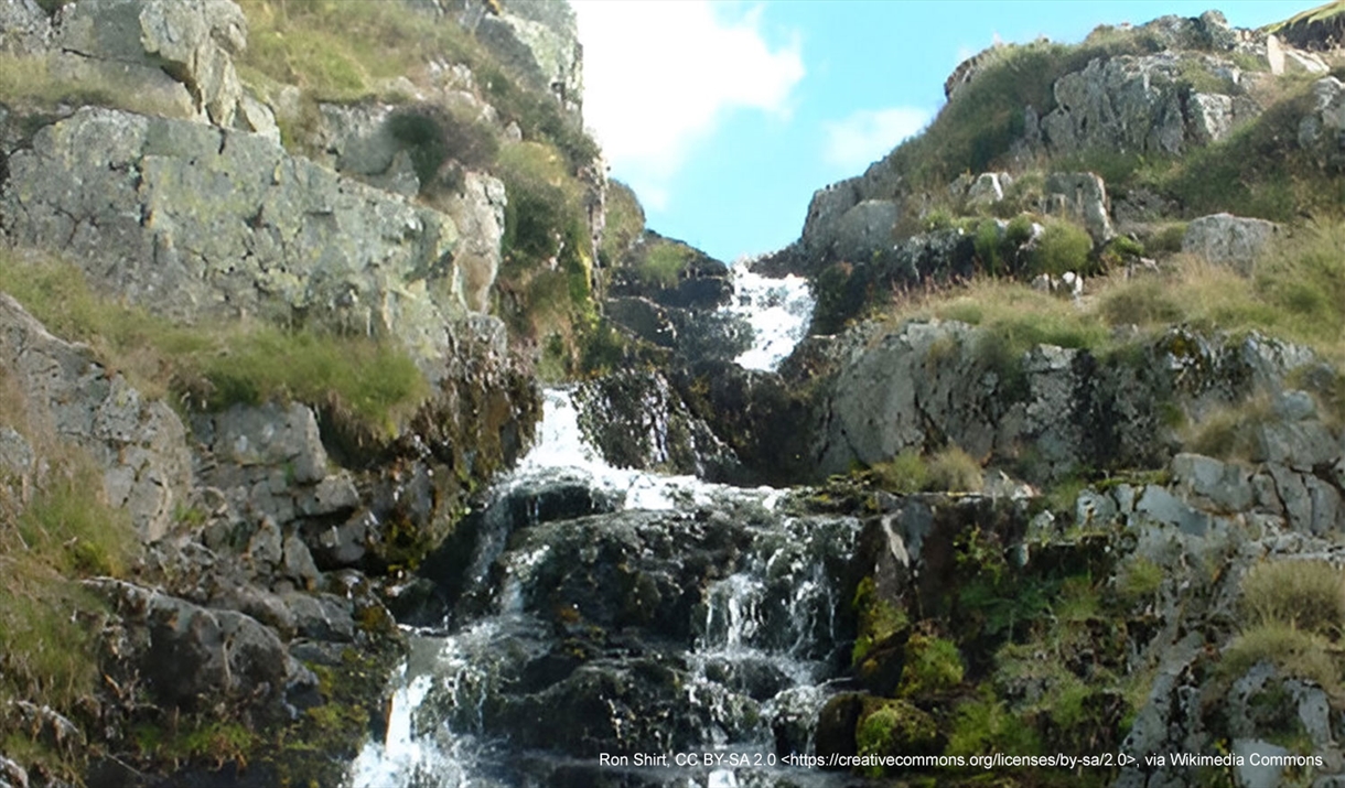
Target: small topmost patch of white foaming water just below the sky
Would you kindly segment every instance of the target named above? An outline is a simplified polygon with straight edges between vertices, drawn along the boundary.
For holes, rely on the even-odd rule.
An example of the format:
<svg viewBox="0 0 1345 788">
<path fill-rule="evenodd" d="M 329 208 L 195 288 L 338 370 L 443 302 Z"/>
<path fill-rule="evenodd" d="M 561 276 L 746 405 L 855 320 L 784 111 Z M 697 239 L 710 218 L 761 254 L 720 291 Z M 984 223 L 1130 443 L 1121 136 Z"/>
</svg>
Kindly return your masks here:
<svg viewBox="0 0 1345 788">
<path fill-rule="evenodd" d="M 796 276 L 769 278 L 752 273 L 746 262 L 733 266 L 733 304 L 729 311 L 752 324 L 752 347 L 738 364 L 749 370 L 775 370 L 808 333 L 812 320 L 812 290 Z"/>
</svg>

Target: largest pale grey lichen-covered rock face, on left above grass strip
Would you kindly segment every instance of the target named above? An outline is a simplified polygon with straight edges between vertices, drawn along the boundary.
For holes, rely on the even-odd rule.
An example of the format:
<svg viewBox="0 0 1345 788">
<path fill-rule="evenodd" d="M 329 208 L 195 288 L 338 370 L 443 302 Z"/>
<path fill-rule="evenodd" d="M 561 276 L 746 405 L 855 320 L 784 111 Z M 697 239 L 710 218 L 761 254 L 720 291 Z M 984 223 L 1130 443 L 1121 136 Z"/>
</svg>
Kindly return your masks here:
<svg viewBox="0 0 1345 788">
<path fill-rule="evenodd" d="M 304 319 L 390 336 L 430 372 L 453 346 L 465 288 L 479 301 L 490 280 L 455 264 L 459 231 L 445 214 L 257 134 L 104 109 L 44 128 L 9 157 L 0 227 L 171 317 Z"/>
</svg>

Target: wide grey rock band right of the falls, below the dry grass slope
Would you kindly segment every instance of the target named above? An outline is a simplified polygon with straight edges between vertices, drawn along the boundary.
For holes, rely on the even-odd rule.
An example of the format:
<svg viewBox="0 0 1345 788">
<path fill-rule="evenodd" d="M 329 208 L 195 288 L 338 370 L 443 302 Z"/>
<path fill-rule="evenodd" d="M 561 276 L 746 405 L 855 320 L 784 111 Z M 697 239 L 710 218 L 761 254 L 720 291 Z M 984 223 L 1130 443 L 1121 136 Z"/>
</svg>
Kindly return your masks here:
<svg viewBox="0 0 1345 788">
<path fill-rule="evenodd" d="M 1079 468 L 1154 467 L 1174 450 L 1162 413 L 1204 418 L 1219 405 L 1280 390 L 1307 351 L 1173 329 L 1139 359 L 1038 346 L 1017 355 L 958 323 L 907 323 L 845 358 L 822 406 L 816 467 L 839 473 L 902 450 L 954 444 L 1010 463 L 1029 481 Z"/>
</svg>

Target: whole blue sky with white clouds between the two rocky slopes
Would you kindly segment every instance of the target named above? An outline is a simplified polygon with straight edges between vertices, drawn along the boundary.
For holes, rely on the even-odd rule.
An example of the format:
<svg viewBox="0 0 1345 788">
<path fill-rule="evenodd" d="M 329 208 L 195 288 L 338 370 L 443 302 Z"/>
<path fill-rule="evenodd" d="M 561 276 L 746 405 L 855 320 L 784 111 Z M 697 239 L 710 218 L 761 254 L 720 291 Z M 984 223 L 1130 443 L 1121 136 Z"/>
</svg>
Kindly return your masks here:
<svg viewBox="0 0 1345 788">
<path fill-rule="evenodd" d="M 1079 42 L 1099 24 L 1198 16 L 1209 0 L 940 3 L 573 0 L 585 122 L 648 225 L 714 257 L 799 235 L 812 191 L 858 175 L 943 105 L 994 40 Z M 1225 0 L 1260 27 L 1311 0 Z"/>
</svg>

